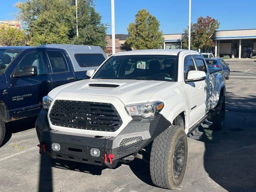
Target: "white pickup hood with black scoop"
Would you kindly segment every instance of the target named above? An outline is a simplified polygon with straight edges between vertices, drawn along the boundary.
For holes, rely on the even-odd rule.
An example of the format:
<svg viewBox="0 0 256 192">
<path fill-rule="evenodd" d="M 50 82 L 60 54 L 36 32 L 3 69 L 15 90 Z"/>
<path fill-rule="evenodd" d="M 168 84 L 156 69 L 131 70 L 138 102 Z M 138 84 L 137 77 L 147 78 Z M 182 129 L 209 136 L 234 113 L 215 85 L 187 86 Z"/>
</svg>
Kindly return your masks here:
<svg viewBox="0 0 256 192">
<path fill-rule="evenodd" d="M 121 100 L 124 105 L 148 102 L 149 98 L 163 87 L 174 84 L 167 81 L 153 80 L 108 80 L 87 79 L 59 86 L 48 96 L 54 99 L 58 94 L 63 95 L 97 95 L 112 96 Z"/>
</svg>

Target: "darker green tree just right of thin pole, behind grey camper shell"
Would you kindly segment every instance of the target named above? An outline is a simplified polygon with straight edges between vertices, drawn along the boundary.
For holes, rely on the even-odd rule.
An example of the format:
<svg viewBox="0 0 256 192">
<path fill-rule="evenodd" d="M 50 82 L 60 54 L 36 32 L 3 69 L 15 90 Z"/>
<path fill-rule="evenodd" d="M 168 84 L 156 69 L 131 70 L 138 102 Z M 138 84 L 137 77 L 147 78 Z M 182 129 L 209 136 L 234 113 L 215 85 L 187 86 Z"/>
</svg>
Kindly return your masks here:
<svg viewBox="0 0 256 192">
<path fill-rule="evenodd" d="M 73 44 L 95 45 L 106 48 L 106 25 L 96 12 L 93 0 L 78 0 L 78 37 L 74 34 Z"/>
</svg>

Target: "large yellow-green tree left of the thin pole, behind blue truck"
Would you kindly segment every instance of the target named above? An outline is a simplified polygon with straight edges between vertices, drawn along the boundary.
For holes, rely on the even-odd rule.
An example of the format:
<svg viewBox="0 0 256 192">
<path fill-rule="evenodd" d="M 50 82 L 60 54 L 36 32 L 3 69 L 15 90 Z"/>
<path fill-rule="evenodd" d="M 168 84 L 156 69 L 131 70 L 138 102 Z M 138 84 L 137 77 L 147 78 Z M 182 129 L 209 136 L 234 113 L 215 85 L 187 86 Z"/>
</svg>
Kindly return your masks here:
<svg viewBox="0 0 256 192">
<path fill-rule="evenodd" d="M 16 6 L 30 36 L 30 45 L 70 42 L 75 22 L 70 0 L 26 0 Z"/>
</svg>

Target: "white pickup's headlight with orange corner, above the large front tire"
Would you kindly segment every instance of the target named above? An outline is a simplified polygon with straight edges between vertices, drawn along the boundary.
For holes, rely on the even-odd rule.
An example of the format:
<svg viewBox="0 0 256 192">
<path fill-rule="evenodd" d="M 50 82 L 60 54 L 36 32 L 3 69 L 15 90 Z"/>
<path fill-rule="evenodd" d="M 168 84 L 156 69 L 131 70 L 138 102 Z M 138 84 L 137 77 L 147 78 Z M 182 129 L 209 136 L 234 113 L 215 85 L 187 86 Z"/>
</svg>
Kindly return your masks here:
<svg viewBox="0 0 256 192">
<path fill-rule="evenodd" d="M 131 104 L 125 106 L 128 115 L 130 116 L 141 116 L 144 118 L 154 117 L 158 114 L 162 108 L 164 108 L 164 103 L 160 101 Z"/>
</svg>

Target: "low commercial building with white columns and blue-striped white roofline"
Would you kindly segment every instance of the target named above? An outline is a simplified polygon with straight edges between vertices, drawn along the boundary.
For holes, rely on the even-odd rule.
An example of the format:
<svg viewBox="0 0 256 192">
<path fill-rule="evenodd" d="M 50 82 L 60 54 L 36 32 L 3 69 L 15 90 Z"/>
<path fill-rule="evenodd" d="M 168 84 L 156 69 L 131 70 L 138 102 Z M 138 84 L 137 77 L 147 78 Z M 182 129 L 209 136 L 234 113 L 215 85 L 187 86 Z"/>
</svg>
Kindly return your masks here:
<svg viewBox="0 0 256 192">
<path fill-rule="evenodd" d="M 164 48 L 182 48 L 182 34 L 164 34 Z M 212 35 L 215 47 L 208 52 L 215 56 L 230 58 L 251 58 L 256 56 L 256 29 L 220 30 Z"/>
</svg>

